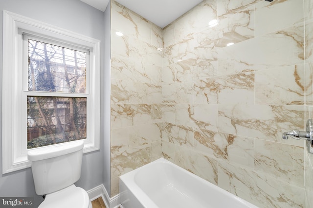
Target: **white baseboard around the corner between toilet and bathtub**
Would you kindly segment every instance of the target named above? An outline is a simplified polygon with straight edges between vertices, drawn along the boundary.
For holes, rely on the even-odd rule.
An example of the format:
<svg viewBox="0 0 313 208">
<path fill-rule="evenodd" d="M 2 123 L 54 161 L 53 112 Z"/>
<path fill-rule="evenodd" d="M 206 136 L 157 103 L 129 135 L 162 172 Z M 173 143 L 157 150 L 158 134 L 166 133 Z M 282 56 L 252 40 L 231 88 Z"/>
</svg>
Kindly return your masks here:
<svg viewBox="0 0 313 208">
<path fill-rule="evenodd" d="M 104 204 L 107 208 L 118 208 L 120 207 L 120 196 L 117 194 L 116 196 L 113 196 L 110 198 L 108 191 L 104 188 L 103 184 L 90 189 L 87 191 L 89 195 L 90 201 L 93 201 L 101 196 L 103 199 Z"/>
</svg>

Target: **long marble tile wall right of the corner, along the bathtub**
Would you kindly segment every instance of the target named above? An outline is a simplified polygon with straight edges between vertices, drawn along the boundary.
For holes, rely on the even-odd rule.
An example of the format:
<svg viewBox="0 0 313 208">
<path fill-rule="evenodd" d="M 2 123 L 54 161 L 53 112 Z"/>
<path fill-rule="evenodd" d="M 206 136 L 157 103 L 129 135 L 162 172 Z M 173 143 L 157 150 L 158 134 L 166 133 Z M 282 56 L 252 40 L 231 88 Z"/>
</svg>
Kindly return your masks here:
<svg viewBox="0 0 313 208">
<path fill-rule="evenodd" d="M 312 207 L 312 156 L 281 137 L 312 97 L 304 38 L 303 0 L 204 0 L 164 28 L 163 156 L 260 208 Z"/>
</svg>

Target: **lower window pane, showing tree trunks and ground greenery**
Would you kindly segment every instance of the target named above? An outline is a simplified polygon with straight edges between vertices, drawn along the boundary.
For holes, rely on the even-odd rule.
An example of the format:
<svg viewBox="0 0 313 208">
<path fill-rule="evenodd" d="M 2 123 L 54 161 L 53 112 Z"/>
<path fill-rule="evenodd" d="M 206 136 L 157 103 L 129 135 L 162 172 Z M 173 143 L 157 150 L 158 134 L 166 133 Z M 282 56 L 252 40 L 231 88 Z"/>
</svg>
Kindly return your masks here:
<svg viewBox="0 0 313 208">
<path fill-rule="evenodd" d="M 27 149 L 87 137 L 86 97 L 27 97 Z"/>
</svg>

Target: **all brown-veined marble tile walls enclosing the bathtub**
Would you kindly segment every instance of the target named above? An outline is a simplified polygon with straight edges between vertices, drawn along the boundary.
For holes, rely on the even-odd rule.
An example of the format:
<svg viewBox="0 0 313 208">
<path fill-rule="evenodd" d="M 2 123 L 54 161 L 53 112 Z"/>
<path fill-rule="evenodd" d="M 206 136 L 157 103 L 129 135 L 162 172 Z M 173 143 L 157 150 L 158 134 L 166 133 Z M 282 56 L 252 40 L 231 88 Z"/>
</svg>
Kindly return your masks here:
<svg viewBox="0 0 313 208">
<path fill-rule="evenodd" d="M 161 29 L 112 1 L 111 195 L 163 156 L 260 208 L 313 207 L 313 157 L 281 138 L 313 118 L 312 7 L 203 0 Z"/>
</svg>

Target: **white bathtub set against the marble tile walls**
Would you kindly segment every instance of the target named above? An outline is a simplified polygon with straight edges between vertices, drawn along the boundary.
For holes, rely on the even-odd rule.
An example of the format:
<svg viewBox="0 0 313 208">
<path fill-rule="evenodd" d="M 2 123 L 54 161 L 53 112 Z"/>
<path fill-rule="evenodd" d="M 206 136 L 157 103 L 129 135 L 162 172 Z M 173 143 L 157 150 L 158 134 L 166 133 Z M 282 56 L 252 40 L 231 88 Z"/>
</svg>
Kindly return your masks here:
<svg viewBox="0 0 313 208">
<path fill-rule="evenodd" d="M 257 208 L 163 158 L 119 182 L 123 208 Z"/>
</svg>

